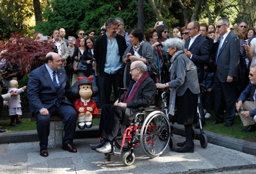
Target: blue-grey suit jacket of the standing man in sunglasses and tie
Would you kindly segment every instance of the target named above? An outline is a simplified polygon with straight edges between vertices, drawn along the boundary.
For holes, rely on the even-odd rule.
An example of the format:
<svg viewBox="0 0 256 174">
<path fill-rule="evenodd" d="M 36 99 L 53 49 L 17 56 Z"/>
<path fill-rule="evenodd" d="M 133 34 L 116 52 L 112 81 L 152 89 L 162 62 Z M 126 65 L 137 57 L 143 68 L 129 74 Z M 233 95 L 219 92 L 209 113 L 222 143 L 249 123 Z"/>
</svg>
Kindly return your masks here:
<svg viewBox="0 0 256 174">
<path fill-rule="evenodd" d="M 220 41 L 219 41 L 220 42 Z M 218 44 L 216 42 L 214 44 Z M 223 42 L 219 51 L 219 57 L 217 60 L 217 73 L 221 83 L 227 83 L 228 75 L 233 77 L 233 81 L 236 82 L 241 78 L 239 60 L 240 60 L 240 41 L 239 38 L 232 32 L 228 33 L 228 36 Z M 219 46 L 217 46 L 215 62 L 218 54 Z"/>
</svg>

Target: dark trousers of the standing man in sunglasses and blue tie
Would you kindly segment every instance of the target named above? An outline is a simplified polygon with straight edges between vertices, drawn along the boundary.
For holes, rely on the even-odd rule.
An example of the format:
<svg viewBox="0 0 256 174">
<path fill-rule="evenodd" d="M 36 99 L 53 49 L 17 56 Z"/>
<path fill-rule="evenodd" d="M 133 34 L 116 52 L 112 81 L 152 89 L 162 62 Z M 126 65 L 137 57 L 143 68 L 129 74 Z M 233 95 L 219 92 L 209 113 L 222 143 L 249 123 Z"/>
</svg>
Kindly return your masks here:
<svg viewBox="0 0 256 174">
<path fill-rule="evenodd" d="M 236 114 L 236 82 L 221 83 L 217 73 L 215 73 L 214 85 L 216 120 L 218 122 L 224 121 L 224 110 L 226 109 L 226 123 L 233 124 Z"/>
</svg>

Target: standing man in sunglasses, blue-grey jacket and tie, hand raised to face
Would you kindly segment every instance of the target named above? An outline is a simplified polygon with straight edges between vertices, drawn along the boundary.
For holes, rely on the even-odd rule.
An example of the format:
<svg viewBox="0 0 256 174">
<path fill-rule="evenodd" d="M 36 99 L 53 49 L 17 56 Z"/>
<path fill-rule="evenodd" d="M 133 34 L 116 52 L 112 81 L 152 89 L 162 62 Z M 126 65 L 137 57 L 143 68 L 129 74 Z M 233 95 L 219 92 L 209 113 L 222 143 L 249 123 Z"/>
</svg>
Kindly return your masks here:
<svg viewBox="0 0 256 174">
<path fill-rule="evenodd" d="M 230 22 L 227 17 L 221 17 L 217 21 L 215 37 L 216 58 L 215 58 L 215 115 L 216 119 L 210 124 L 224 122 L 224 110 L 226 104 L 226 124 L 230 127 L 234 123 L 236 112 L 236 82 L 240 79 L 239 59 L 240 41 L 239 38 L 230 32 Z M 222 36 L 222 37 L 221 37 Z M 220 41 L 219 38 L 221 37 Z M 218 42 L 219 41 L 219 42 Z"/>
</svg>

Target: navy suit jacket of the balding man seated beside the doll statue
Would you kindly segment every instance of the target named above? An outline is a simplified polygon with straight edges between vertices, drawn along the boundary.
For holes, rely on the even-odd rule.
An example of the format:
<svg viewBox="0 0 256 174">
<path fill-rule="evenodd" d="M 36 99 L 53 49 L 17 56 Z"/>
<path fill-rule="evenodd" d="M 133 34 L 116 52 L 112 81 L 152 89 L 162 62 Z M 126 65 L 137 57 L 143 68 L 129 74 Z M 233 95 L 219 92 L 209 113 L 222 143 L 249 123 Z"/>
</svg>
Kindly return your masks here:
<svg viewBox="0 0 256 174">
<path fill-rule="evenodd" d="M 30 73 L 27 88 L 30 112 L 37 113 L 43 107 L 49 109 L 54 105 L 57 97 L 61 102 L 72 105 L 73 98 L 71 96 L 70 84 L 66 78 L 66 71 L 61 68 L 57 73 L 61 82 L 58 94 L 56 94 L 52 78 L 46 69 L 46 64 L 43 64 Z M 72 103 L 67 101 L 65 97 Z"/>
</svg>

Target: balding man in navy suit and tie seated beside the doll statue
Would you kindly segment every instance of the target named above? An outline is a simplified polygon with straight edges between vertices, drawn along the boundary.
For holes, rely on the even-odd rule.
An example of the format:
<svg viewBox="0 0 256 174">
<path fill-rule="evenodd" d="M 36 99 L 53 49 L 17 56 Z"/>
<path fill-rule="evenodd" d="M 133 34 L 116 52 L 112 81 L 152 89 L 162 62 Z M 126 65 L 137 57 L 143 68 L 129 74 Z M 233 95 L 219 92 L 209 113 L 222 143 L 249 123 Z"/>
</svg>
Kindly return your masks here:
<svg viewBox="0 0 256 174">
<path fill-rule="evenodd" d="M 45 64 L 32 71 L 28 80 L 29 107 L 37 117 L 40 155 L 43 157 L 48 156 L 47 146 L 52 115 L 59 116 L 65 124 L 62 149 L 77 152 L 73 146 L 77 114 L 72 103 L 69 102 L 73 102 L 71 87 L 61 64 L 61 56 L 50 52 L 46 55 Z"/>
</svg>

